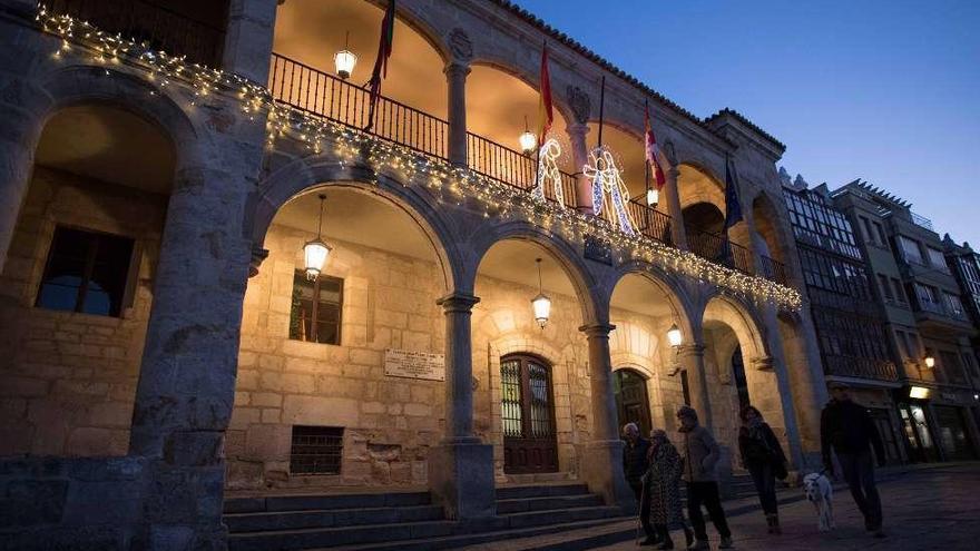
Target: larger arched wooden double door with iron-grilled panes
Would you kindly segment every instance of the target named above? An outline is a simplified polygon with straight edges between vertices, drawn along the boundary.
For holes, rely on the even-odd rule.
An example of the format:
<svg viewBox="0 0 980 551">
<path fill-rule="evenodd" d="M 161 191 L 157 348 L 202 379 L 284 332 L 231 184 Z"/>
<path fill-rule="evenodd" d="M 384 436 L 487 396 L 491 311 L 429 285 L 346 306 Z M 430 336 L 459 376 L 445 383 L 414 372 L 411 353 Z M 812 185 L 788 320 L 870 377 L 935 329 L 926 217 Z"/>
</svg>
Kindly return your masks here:
<svg viewBox="0 0 980 551">
<path fill-rule="evenodd" d="M 557 472 L 550 367 L 533 356 L 506 356 L 500 361 L 500 380 L 503 472 Z"/>
</svg>

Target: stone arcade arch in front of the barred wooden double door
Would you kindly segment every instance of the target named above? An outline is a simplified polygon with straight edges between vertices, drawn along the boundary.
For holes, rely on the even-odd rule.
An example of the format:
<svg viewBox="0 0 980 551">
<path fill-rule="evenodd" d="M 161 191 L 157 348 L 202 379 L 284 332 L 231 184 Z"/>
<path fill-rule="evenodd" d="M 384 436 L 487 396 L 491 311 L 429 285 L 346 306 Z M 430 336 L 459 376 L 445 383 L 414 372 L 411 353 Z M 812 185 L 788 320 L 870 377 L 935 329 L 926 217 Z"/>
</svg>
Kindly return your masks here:
<svg viewBox="0 0 980 551">
<path fill-rule="evenodd" d="M 481 227 L 473 232 L 467 243 L 467 249 L 471 256 L 467 263 L 465 279 L 461 279 L 459 284 L 461 288 L 471 289 L 473 287 L 483 257 L 493 245 L 507 239 L 535 243 L 548 252 L 561 266 L 576 292 L 576 298 L 581 308 L 582 325 L 608 321 L 608 303 L 598 298 L 599 283 L 579 255 L 578 249 L 564 238 L 526 220 L 490 224 L 489 227 Z"/>
</svg>

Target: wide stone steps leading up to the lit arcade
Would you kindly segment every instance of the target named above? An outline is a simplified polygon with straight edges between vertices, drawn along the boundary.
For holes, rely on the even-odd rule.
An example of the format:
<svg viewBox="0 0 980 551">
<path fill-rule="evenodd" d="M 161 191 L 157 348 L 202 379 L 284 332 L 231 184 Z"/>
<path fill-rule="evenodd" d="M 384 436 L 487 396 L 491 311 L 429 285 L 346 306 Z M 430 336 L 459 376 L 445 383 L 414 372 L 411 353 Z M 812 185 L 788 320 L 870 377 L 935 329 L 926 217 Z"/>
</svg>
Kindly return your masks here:
<svg viewBox="0 0 980 551">
<path fill-rule="evenodd" d="M 502 486 L 497 495 L 498 514 L 474 521 L 445 520 L 442 509 L 432 505 L 424 492 L 231 499 L 225 503 L 228 548 L 437 549 L 623 519 L 619 508 L 604 505 L 601 498 L 590 494 L 585 484 Z"/>
</svg>

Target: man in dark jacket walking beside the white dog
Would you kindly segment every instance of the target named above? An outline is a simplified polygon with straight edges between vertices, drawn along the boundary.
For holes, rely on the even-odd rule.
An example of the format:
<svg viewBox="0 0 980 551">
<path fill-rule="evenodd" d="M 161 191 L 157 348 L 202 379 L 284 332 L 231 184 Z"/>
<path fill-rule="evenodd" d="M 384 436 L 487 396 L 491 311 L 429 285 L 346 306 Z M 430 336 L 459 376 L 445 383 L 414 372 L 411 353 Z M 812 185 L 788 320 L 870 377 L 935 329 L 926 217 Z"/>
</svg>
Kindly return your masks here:
<svg viewBox="0 0 980 551">
<path fill-rule="evenodd" d="M 833 474 L 831 449 L 837 454 L 844 480 L 851 489 L 854 502 L 864 515 L 864 528 L 883 538 L 881 530 L 881 499 L 874 483 L 874 463 L 871 447 L 878 457 L 878 466 L 884 466 L 884 446 L 868 410 L 851 401 L 847 386 L 831 383 L 831 402 L 820 416 L 820 441 L 823 465 Z"/>
</svg>

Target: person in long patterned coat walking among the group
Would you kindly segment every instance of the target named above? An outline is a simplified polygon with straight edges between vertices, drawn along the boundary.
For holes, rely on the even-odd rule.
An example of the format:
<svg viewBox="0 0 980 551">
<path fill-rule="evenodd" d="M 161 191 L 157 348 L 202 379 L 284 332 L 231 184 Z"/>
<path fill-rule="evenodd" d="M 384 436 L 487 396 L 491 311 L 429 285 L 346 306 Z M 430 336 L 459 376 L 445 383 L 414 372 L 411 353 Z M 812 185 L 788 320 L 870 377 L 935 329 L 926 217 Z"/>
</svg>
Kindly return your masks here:
<svg viewBox="0 0 980 551">
<path fill-rule="evenodd" d="M 667 433 L 656 430 L 650 433 L 650 468 L 644 480 L 650 496 L 650 524 L 657 532 L 660 544 L 657 549 L 674 549 L 670 527 L 680 524 L 687 547 L 694 542 L 694 532 L 687 528 L 680 503 L 680 471 L 684 469 L 680 454 L 667 439 Z"/>
</svg>

